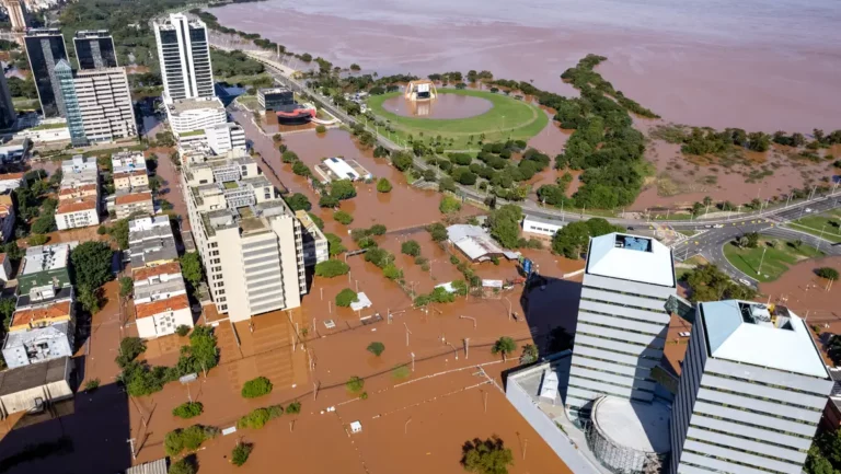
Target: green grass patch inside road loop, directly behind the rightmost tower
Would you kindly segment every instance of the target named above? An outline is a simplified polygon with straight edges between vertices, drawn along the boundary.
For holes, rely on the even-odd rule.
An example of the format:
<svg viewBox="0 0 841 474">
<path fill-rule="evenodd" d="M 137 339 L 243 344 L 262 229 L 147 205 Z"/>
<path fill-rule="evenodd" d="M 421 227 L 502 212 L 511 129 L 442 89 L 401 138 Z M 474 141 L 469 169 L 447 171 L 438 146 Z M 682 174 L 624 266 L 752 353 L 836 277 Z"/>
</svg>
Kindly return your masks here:
<svg viewBox="0 0 841 474">
<path fill-rule="evenodd" d="M 765 251 L 765 257 L 762 259 L 762 252 Z M 792 241 L 782 239 L 760 238 L 757 248 L 739 248 L 733 242 L 724 245 L 724 256 L 736 268 L 759 281 L 773 281 L 780 278 L 791 265 L 806 258 L 815 258 L 823 255 L 813 246 L 803 244 L 795 248 Z M 762 261 L 762 273 L 757 275 L 760 261 Z"/>
</svg>

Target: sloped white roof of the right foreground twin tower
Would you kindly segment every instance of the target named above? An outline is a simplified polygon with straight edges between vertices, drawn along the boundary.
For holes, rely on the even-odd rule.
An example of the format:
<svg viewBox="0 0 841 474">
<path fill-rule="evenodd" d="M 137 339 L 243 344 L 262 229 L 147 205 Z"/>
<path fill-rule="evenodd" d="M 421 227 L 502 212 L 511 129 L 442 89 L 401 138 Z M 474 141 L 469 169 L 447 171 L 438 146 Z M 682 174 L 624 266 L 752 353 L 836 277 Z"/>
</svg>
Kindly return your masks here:
<svg viewBox="0 0 841 474">
<path fill-rule="evenodd" d="M 712 357 L 829 378 L 806 323 L 787 308 L 738 300 L 701 303 L 699 308 Z M 751 319 L 746 315 L 746 308 L 751 312 L 759 310 L 765 316 Z"/>
</svg>

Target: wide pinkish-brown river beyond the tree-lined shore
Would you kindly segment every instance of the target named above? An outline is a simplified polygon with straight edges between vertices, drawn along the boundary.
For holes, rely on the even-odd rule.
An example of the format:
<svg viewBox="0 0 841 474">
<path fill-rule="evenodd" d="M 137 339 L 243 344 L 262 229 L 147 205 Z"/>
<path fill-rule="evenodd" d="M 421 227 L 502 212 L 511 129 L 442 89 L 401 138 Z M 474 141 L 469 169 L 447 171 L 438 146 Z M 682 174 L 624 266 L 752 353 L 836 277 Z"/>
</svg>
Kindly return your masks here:
<svg viewBox="0 0 841 474">
<path fill-rule="evenodd" d="M 669 120 L 773 132 L 841 118 L 833 0 L 269 0 L 210 11 L 224 26 L 381 76 L 486 69 L 571 95 L 558 76 L 595 53 L 609 58 L 604 79 Z"/>
</svg>

